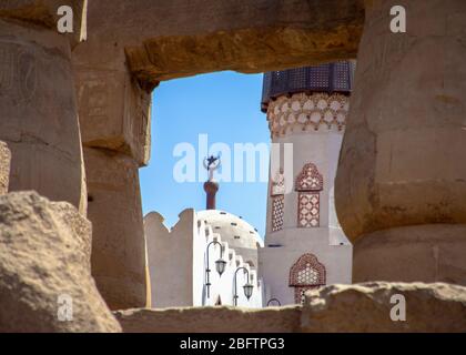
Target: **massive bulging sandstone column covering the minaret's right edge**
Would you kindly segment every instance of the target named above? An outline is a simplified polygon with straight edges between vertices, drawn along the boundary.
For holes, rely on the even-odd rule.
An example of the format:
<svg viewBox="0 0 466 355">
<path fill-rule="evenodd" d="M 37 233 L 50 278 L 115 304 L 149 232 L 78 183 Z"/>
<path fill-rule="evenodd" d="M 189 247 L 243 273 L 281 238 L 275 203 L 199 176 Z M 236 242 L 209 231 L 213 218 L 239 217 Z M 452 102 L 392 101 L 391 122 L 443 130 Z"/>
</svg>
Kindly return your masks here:
<svg viewBox="0 0 466 355">
<path fill-rule="evenodd" d="M 366 6 L 335 190 L 353 282 L 466 284 L 466 2 Z"/>
</svg>

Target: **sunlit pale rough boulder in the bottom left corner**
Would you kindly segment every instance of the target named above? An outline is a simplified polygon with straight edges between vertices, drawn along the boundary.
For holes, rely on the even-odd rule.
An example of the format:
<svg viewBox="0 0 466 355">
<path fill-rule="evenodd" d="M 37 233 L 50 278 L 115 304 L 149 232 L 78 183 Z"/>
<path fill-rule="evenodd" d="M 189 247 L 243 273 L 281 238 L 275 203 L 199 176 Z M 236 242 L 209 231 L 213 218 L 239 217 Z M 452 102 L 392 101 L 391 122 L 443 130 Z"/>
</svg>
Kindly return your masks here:
<svg viewBox="0 0 466 355">
<path fill-rule="evenodd" d="M 0 332 L 121 329 L 84 262 L 75 221 L 63 220 L 78 214 L 71 209 L 36 192 L 0 196 Z M 62 295 L 72 298 L 70 322 L 59 322 Z"/>
</svg>

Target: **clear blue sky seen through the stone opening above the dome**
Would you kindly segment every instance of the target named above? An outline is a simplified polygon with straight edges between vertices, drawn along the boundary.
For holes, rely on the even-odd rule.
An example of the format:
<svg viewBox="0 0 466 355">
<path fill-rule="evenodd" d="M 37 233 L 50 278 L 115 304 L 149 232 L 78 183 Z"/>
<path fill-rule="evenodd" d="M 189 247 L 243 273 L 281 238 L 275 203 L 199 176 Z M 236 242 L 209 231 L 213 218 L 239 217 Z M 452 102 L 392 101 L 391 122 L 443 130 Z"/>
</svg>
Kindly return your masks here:
<svg viewBox="0 0 466 355">
<path fill-rule="evenodd" d="M 172 226 L 184 209 L 205 209 L 202 185 L 206 173 L 197 182 L 179 183 L 173 178 L 181 159 L 173 154 L 176 144 L 191 143 L 199 154 L 199 134 L 209 135 L 209 145 L 223 142 L 232 151 L 234 143 L 270 143 L 265 114 L 260 110 L 261 93 L 262 74 L 235 72 L 171 80 L 154 90 L 152 156 L 149 166 L 140 170 L 144 215 L 158 211 Z M 264 236 L 266 191 L 266 183 L 259 179 L 254 183 L 222 182 L 216 206 L 242 216 Z"/>
</svg>

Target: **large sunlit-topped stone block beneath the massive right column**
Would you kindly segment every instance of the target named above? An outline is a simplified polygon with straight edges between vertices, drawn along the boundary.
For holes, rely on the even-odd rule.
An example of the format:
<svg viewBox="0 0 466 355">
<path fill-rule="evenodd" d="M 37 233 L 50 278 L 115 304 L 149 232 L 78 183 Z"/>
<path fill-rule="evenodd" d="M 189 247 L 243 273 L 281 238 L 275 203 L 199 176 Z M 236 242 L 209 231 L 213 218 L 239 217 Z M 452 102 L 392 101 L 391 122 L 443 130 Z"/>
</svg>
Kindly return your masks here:
<svg viewBox="0 0 466 355">
<path fill-rule="evenodd" d="M 406 300 L 406 322 L 393 322 L 394 294 Z M 466 332 L 466 287 L 435 283 L 332 285 L 306 293 L 303 332 Z"/>
</svg>

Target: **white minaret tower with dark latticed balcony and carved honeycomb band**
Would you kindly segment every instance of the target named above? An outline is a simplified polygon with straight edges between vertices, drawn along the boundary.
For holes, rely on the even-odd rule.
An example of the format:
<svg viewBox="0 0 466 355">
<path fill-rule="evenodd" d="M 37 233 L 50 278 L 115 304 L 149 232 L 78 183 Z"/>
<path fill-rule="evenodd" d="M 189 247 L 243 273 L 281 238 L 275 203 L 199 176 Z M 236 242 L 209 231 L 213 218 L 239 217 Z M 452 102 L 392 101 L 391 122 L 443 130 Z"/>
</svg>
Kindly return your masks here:
<svg viewBox="0 0 466 355">
<path fill-rule="evenodd" d="M 262 111 L 272 136 L 264 303 L 301 303 L 304 292 L 351 283 L 352 245 L 334 207 L 334 179 L 354 62 L 264 74 Z"/>
</svg>

